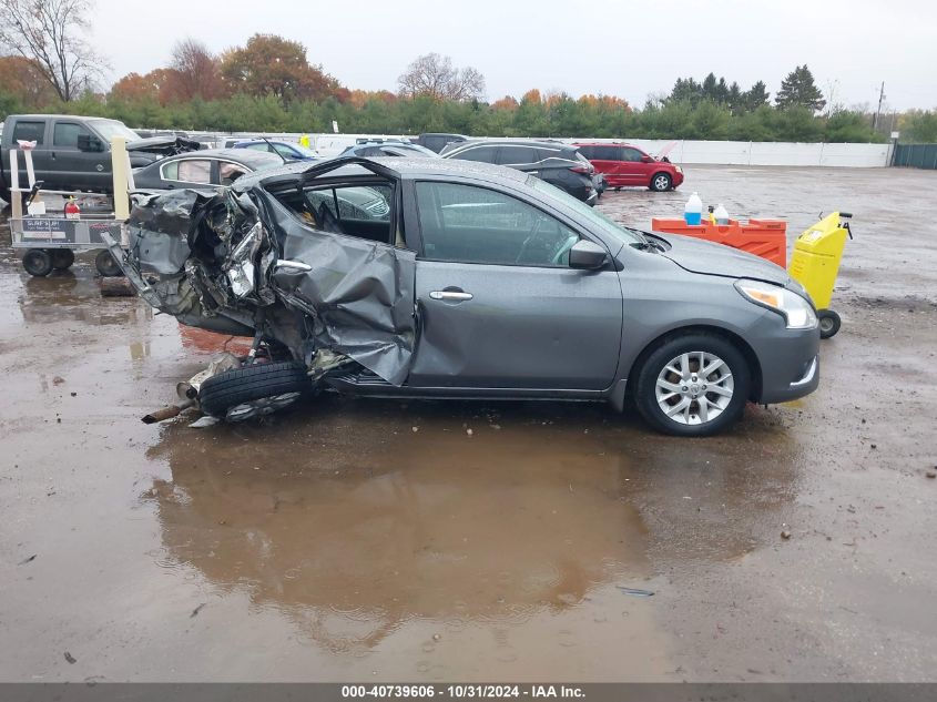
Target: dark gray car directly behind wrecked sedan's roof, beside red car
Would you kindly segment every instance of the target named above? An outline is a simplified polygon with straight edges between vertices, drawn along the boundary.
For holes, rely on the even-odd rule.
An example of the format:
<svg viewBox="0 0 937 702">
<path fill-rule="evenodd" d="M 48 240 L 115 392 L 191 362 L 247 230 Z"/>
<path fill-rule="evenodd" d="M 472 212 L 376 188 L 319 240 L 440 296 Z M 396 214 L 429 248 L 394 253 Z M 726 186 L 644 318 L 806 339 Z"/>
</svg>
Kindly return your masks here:
<svg viewBox="0 0 937 702">
<path fill-rule="evenodd" d="M 599 197 L 595 169 L 576 146 L 560 142 L 476 140 L 450 144 L 440 155 L 444 159 L 497 163 L 530 173 L 588 205 L 594 205 Z"/>
</svg>

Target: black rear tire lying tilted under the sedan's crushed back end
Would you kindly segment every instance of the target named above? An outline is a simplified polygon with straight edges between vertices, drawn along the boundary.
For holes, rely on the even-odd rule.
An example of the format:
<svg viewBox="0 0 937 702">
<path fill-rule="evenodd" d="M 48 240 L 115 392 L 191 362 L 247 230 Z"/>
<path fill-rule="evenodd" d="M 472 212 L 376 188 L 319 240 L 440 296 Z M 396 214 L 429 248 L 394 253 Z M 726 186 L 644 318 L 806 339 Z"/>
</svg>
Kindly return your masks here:
<svg viewBox="0 0 937 702">
<path fill-rule="evenodd" d="M 287 393 L 313 389 L 306 368 L 294 360 L 258 363 L 212 376 L 198 388 L 202 411 L 224 417 L 231 407 Z"/>
</svg>

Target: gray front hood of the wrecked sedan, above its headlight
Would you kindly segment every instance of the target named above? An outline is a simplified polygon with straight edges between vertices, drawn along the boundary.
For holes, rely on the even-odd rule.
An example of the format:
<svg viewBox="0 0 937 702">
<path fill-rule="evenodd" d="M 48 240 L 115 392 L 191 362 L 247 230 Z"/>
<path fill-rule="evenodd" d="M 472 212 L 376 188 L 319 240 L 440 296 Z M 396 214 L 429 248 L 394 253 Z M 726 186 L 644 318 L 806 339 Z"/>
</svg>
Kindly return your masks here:
<svg viewBox="0 0 937 702">
<path fill-rule="evenodd" d="M 730 278 L 752 278 L 787 286 L 791 276 L 781 266 L 753 254 L 680 234 L 653 233 L 671 245 L 661 253 L 681 268 L 703 275 L 723 275 Z"/>
</svg>

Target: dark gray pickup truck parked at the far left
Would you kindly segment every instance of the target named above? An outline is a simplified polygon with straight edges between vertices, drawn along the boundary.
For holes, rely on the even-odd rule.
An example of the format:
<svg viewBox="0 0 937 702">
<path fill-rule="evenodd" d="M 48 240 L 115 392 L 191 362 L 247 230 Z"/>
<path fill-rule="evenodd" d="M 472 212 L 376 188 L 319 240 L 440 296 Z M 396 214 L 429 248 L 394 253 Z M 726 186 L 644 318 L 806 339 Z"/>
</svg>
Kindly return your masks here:
<svg viewBox="0 0 937 702">
<path fill-rule="evenodd" d="M 73 114 L 11 114 L 0 141 L 0 197 L 10 202 L 10 149 L 20 141 L 35 142 L 35 180 L 47 190 L 110 193 L 113 191 L 111 140 L 123 136 L 133 167 L 201 147 L 174 134 L 141 139 L 123 122 Z M 24 159 L 19 159 L 19 184 L 28 187 Z"/>
</svg>

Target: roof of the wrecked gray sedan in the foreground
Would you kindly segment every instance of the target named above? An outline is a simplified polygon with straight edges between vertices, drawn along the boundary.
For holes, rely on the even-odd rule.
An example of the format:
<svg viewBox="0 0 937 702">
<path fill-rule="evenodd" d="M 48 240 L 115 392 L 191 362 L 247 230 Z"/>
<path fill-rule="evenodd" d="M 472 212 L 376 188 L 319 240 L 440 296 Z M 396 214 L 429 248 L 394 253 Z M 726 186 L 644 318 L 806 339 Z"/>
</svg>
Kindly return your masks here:
<svg viewBox="0 0 937 702">
<path fill-rule="evenodd" d="M 200 152 L 201 153 L 201 152 Z M 342 163 L 346 162 L 347 163 Z M 324 173 L 324 177 L 345 177 L 376 175 L 361 165 L 363 162 L 375 163 L 381 169 L 390 172 L 400 180 L 416 180 L 428 175 L 465 175 L 469 177 L 500 179 L 515 183 L 526 182 L 530 175 L 523 171 L 509 169 L 507 166 L 481 163 L 478 161 L 460 161 L 459 159 L 430 159 L 409 156 L 338 156 L 329 161 L 318 161 L 310 164 L 308 161 L 289 163 L 276 170 L 267 170 L 263 173 L 243 175 L 237 179 L 237 190 L 245 190 L 261 181 L 274 180 L 281 176 L 305 173 L 313 169 L 320 169 L 334 165 L 333 170 Z M 378 176 L 379 177 L 379 176 Z"/>
</svg>

